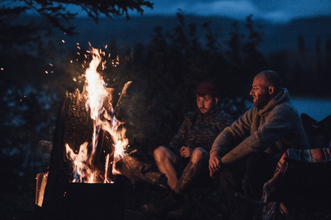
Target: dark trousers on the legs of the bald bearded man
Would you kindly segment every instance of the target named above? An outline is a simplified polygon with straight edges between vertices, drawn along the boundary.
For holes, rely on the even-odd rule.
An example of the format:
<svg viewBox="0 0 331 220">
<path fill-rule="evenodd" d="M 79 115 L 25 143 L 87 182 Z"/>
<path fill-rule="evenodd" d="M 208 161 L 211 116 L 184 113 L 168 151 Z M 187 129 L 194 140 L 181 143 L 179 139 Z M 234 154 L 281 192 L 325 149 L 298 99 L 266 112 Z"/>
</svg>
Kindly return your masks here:
<svg viewBox="0 0 331 220">
<path fill-rule="evenodd" d="M 263 185 L 272 178 L 277 161 L 267 153 L 253 153 L 234 164 L 226 165 L 220 172 L 223 191 L 230 203 L 228 219 L 252 219 L 257 214 L 256 204 L 243 201 L 236 193 L 248 199 L 260 200 Z"/>
</svg>

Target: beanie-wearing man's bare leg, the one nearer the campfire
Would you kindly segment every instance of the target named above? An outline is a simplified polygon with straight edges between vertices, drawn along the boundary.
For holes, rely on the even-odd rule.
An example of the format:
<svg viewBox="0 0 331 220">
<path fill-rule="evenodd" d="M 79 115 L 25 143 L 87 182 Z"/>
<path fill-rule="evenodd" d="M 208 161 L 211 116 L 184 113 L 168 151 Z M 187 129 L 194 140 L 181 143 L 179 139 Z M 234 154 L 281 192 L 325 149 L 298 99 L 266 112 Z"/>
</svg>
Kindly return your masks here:
<svg viewBox="0 0 331 220">
<path fill-rule="evenodd" d="M 154 159 L 161 173 L 168 178 L 168 186 L 173 190 L 178 183 L 177 172 L 174 163 L 176 155 L 165 146 L 159 146 L 154 150 Z"/>
</svg>

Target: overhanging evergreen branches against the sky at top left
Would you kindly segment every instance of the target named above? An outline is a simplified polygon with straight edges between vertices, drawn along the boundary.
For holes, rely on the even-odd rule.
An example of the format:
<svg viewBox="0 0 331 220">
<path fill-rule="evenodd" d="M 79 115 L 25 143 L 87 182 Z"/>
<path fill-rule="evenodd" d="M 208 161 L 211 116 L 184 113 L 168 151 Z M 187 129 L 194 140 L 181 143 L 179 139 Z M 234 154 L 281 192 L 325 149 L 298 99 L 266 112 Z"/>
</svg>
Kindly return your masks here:
<svg viewBox="0 0 331 220">
<path fill-rule="evenodd" d="M 10 0 L 4 0 L 1 4 L 10 5 L 11 3 Z M 95 22 L 98 22 L 102 15 L 108 18 L 126 15 L 126 18 L 130 19 L 128 10 L 135 10 L 139 14 L 143 14 L 142 7 L 152 8 L 153 3 L 146 0 L 17 0 L 14 1 L 12 7 L 3 6 L 0 11 L 3 16 L 30 11 L 36 12 L 51 23 L 54 28 L 59 28 L 67 34 L 74 34 L 74 26 L 68 22 L 77 16 L 77 12 L 71 12 L 75 6 L 85 11 L 88 17 L 94 19 Z"/>
</svg>

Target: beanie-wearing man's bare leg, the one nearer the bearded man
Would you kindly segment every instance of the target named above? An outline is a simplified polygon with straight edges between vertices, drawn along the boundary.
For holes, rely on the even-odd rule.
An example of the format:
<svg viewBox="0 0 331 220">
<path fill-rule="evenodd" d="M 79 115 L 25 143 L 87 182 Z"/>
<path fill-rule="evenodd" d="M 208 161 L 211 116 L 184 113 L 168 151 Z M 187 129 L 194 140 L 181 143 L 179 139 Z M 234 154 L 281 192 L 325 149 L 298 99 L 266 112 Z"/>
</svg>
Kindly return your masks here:
<svg viewBox="0 0 331 220">
<path fill-rule="evenodd" d="M 185 167 L 177 186 L 174 188 L 174 192 L 179 195 L 185 193 L 185 190 L 188 190 L 190 185 L 199 178 L 201 170 L 203 169 L 203 160 L 208 161 L 208 159 L 209 154 L 205 149 L 195 148 L 190 158 L 190 162 Z"/>
</svg>

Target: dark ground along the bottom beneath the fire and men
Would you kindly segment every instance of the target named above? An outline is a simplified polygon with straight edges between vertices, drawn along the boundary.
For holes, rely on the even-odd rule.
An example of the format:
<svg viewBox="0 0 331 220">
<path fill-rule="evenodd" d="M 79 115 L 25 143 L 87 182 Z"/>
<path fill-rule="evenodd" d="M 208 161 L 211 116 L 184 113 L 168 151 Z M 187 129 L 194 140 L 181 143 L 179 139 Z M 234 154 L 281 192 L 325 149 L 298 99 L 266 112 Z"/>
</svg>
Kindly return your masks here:
<svg viewBox="0 0 331 220">
<path fill-rule="evenodd" d="M 221 213 L 226 210 L 224 201 L 214 200 L 215 198 L 217 199 L 220 197 L 219 192 L 217 192 L 217 190 L 209 191 L 210 188 L 205 190 L 208 190 L 208 196 L 203 197 L 203 199 L 201 199 L 201 197 L 198 198 L 197 196 L 197 194 L 201 193 L 201 190 L 193 190 L 190 192 L 195 199 L 194 203 L 192 203 L 192 212 L 190 212 L 189 216 L 161 216 L 157 218 L 144 216 L 140 209 L 143 204 L 159 197 L 159 192 L 155 192 L 150 188 L 135 188 L 133 190 L 128 190 L 128 193 L 123 194 L 123 196 L 121 195 L 121 201 L 116 201 L 114 203 L 116 206 L 115 209 L 110 208 L 112 210 L 103 210 L 103 208 L 97 208 L 102 212 L 101 214 L 99 213 L 99 215 L 92 214 L 87 216 L 86 214 L 90 214 L 90 208 L 76 207 L 78 210 L 86 211 L 86 214 L 81 215 L 72 212 L 74 214 L 71 214 L 69 217 L 68 215 L 59 213 L 50 214 L 50 212 L 46 212 L 43 208 L 35 205 L 35 198 L 8 195 L 0 192 L 0 220 L 222 220 Z M 121 192 L 119 192 L 119 194 L 121 194 Z M 205 192 L 203 192 L 203 194 L 205 194 Z M 81 197 L 79 197 L 79 199 L 80 198 Z M 87 202 L 88 204 L 91 203 L 91 201 Z M 215 204 L 218 204 L 219 206 L 212 207 Z M 89 207 L 89 205 L 84 207 Z M 114 215 L 114 212 L 117 212 L 116 216 Z M 281 218 L 281 220 L 331 220 L 331 216 L 330 214 L 299 214 L 295 217 Z"/>
</svg>

